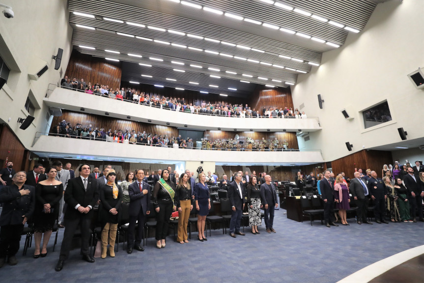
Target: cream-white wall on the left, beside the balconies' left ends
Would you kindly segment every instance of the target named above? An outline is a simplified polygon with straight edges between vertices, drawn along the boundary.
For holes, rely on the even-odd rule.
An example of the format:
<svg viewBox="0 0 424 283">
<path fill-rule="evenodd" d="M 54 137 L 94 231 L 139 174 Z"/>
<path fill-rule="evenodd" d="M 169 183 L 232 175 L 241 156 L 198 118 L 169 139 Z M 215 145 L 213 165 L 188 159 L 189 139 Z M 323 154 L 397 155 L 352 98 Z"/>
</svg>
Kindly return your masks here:
<svg viewBox="0 0 424 283">
<path fill-rule="evenodd" d="M 11 69 L 7 84 L 0 90 L 0 121 L 8 122 L 23 144 L 29 148 L 36 131 L 43 131 L 47 124 L 48 107 L 43 105 L 49 83 L 60 82 L 59 70 L 55 70 L 52 56 L 63 49 L 63 72 L 71 52 L 72 28 L 68 25 L 66 0 L 1 0 L 13 8 L 14 18 L 0 15 L 0 56 Z M 28 72 L 47 62 L 49 69 L 38 81 L 31 81 Z M 24 105 L 29 90 L 33 93 L 35 120 L 27 130 L 19 129 L 18 117 L 28 112 Z"/>
</svg>

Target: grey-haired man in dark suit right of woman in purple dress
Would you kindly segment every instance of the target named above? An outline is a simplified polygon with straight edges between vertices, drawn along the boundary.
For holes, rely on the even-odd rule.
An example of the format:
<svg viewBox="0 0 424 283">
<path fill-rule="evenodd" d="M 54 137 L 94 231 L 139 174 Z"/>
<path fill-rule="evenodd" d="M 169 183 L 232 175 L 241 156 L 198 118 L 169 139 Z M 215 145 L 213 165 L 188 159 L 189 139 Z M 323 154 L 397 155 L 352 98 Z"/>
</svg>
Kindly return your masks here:
<svg viewBox="0 0 424 283">
<path fill-rule="evenodd" d="M 362 174 L 360 172 L 354 173 L 355 178 L 350 180 L 349 192 L 352 194 L 356 206 L 358 207 L 356 209 L 358 224 L 372 224 L 367 220 L 369 193 L 365 181 L 361 179 L 361 175 Z"/>
</svg>

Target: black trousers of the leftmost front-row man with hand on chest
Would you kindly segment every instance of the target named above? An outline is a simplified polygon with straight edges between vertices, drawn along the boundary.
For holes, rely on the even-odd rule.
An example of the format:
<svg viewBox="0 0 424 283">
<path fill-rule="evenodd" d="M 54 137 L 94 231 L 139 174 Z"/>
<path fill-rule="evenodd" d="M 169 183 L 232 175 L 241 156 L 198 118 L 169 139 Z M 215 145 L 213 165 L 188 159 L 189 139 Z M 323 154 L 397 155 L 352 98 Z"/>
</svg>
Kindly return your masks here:
<svg viewBox="0 0 424 283">
<path fill-rule="evenodd" d="M 24 225 L 4 225 L 0 227 L 0 258 L 11 257 L 19 251 L 19 242 Z"/>
</svg>

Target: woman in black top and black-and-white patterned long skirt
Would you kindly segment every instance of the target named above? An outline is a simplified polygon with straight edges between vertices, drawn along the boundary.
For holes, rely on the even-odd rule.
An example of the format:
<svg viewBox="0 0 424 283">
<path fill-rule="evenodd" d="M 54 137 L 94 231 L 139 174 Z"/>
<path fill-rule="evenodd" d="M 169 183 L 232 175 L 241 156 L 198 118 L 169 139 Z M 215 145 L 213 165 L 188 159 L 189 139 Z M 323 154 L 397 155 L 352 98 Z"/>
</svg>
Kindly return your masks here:
<svg viewBox="0 0 424 283">
<path fill-rule="evenodd" d="M 262 224 L 260 218 L 260 189 L 256 184 L 256 177 L 251 176 L 247 186 L 247 201 L 249 203 L 249 226 L 252 226 L 252 234 L 260 234 L 257 226 Z"/>
</svg>

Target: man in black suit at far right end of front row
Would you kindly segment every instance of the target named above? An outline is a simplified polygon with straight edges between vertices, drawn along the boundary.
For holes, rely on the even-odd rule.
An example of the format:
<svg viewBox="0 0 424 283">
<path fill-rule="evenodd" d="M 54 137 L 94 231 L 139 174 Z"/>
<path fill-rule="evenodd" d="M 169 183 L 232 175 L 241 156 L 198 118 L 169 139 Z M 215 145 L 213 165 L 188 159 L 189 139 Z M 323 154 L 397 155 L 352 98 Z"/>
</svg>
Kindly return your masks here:
<svg viewBox="0 0 424 283">
<path fill-rule="evenodd" d="M 414 222 L 417 222 L 417 209 L 418 216 L 421 221 L 424 221 L 423 218 L 423 196 L 424 191 L 421 189 L 420 177 L 414 174 L 415 167 L 408 167 L 408 174 L 403 177 L 403 183 L 409 191 L 409 203 L 411 206 L 411 219 Z"/>
</svg>

